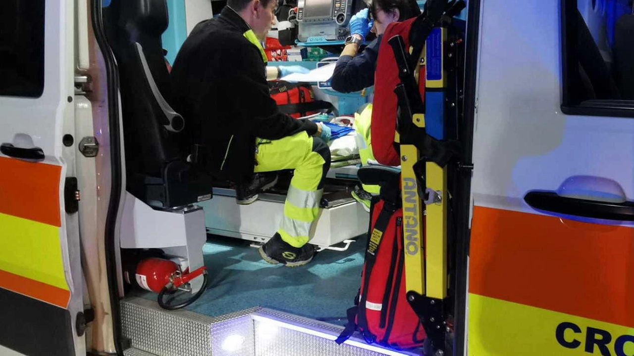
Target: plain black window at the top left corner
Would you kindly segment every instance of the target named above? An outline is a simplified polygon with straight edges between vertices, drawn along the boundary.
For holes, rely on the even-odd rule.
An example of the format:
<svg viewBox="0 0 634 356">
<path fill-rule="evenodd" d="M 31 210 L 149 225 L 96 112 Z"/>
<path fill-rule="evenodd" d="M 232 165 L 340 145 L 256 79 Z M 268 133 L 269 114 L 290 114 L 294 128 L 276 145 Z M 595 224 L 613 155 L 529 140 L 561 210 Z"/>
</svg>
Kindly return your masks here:
<svg viewBox="0 0 634 356">
<path fill-rule="evenodd" d="M 39 98 L 44 91 L 44 0 L 3 0 L 0 95 Z"/>
</svg>

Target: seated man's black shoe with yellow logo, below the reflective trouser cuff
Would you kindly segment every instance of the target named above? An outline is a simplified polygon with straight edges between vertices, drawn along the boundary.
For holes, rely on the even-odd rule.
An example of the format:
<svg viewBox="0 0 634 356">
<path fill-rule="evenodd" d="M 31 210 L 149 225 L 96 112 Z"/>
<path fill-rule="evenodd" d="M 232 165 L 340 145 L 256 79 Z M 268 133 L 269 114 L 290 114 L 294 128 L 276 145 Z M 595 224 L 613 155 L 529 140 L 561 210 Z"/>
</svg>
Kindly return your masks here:
<svg viewBox="0 0 634 356">
<path fill-rule="evenodd" d="M 260 256 L 269 264 L 285 264 L 297 267 L 311 262 L 315 255 L 313 245 L 307 243 L 302 247 L 288 245 L 277 232 L 267 243 L 258 249 Z"/>
</svg>

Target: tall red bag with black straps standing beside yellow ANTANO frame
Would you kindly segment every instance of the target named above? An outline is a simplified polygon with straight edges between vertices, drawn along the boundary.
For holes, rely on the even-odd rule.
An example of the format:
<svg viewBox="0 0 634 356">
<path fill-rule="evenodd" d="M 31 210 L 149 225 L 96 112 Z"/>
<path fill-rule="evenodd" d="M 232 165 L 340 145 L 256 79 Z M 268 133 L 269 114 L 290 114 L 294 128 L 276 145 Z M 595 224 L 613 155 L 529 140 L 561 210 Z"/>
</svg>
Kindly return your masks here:
<svg viewBox="0 0 634 356">
<path fill-rule="evenodd" d="M 403 209 L 379 200 L 373 203 L 370 215 L 361 289 L 356 305 L 348 309 L 348 324 L 337 343 L 358 330 L 368 343 L 399 349 L 420 347 L 427 334 L 406 297 Z"/>
</svg>

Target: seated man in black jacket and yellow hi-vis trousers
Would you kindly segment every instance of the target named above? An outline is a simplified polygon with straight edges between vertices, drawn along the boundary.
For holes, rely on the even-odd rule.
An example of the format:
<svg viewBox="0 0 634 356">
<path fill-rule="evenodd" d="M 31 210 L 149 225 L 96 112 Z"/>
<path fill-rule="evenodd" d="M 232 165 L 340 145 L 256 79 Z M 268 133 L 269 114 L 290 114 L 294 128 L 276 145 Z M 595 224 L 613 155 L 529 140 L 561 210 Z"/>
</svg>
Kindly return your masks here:
<svg viewBox="0 0 634 356">
<path fill-rule="evenodd" d="M 330 167 L 324 142 L 330 130 L 280 113 L 269 96 L 261 41 L 276 5 L 276 0 L 229 0 L 218 18 L 193 29 L 171 79 L 174 108 L 186 120 L 184 144 L 207 149 L 212 173 L 238 184 L 238 203 L 252 203 L 273 186 L 275 171 L 295 170 L 280 227 L 259 250 L 269 263 L 295 266 L 315 253 L 307 242 Z"/>
</svg>

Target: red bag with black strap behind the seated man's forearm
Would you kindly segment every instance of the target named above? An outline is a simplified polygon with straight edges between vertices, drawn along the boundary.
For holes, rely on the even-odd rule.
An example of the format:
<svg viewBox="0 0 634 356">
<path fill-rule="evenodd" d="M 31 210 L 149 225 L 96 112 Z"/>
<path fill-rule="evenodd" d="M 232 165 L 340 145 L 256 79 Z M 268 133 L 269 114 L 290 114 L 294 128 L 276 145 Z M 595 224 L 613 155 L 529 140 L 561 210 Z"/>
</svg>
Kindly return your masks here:
<svg viewBox="0 0 634 356">
<path fill-rule="evenodd" d="M 280 112 L 294 118 L 313 115 L 321 110 L 335 111 L 332 103 L 315 100 L 313 87 L 308 83 L 290 83 L 284 80 L 269 82 L 269 93 Z"/>
</svg>

